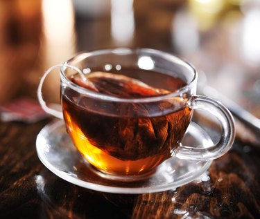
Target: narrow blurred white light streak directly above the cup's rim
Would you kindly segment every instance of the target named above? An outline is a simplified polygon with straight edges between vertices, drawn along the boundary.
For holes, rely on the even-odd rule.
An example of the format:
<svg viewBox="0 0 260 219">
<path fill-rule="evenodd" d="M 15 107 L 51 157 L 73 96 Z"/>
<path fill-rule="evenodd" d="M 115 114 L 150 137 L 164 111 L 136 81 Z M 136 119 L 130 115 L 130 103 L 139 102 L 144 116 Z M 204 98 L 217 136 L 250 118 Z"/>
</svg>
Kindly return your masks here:
<svg viewBox="0 0 260 219">
<path fill-rule="evenodd" d="M 111 32 L 117 44 L 129 44 L 135 32 L 133 0 L 111 1 Z"/>
</svg>

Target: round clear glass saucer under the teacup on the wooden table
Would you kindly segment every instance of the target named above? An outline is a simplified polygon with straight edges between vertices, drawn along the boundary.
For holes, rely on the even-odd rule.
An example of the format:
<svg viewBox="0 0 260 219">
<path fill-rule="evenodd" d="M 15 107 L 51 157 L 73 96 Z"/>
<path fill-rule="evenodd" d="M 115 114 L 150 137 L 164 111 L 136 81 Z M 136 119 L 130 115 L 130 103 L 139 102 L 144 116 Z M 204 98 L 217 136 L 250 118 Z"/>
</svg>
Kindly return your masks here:
<svg viewBox="0 0 260 219">
<path fill-rule="evenodd" d="M 191 122 L 182 144 L 207 148 L 213 143 L 200 126 Z M 42 128 L 37 135 L 36 149 L 42 163 L 58 177 L 80 187 L 109 193 L 137 194 L 175 189 L 199 178 L 211 164 L 211 161 L 170 158 L 160 164 L 157 171 L 146 180 L 108 180 L 96 174 L 73 146 L 62 120 L 55 120 Z"/>
</svg>

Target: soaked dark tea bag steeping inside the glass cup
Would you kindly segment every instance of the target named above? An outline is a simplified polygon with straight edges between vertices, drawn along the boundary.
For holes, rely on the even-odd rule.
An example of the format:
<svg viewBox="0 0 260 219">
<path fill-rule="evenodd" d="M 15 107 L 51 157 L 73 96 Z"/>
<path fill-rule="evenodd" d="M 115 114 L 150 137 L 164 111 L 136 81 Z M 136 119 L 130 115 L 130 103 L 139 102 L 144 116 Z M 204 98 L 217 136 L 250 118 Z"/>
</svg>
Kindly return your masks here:
<svg viewBox="0 0 260 219">
<path fill-rule="evenodd" d="M 95 72 L 87 75 L 87 80 L 94 86 L 92 91 L 113 97 L 131 99 L 154 97 L 169 93 L 169 91 L 153 88 L 138 79 L 125 75 Z M 85 86 L 85 82 L 78 75 L 71 78 L 71 81 L 80 86 Z M 87 85 L 85 88 L 89 89 L 89 86 Z M 107 151 L 110 155 L 121 160 L 138 160 L 157 153 L 171 151 L 175 143 L 173 124 L 177 124 L 177 120 L 182 115 L 178 116 L 174 113 L 174 116 L 169 114 L 153 117 L 149 113 L 150 108 L 154 108 L 155 111 L 163 111 L 166 105 L 169 105 L 167 107 L 171 108 L 172 103 L 155 102 L 149 106 L 141 103 L 132 103 L 126 104 L 125 107 L 120 106 L 121 108 L 118 111 L 119 117 L 113 117 L 111 120 L 107 120 L 106 124 L 101 124 L 100 128 L 102 126 L 106 126 L 106 128 L 104 130 L 100 129 L 101 133 L 95 132 L 95 136 L 89 137 L 89 141 L 99 149 Z M 121 112 L 123 112 L 123 115 L 127 113 L 129 116 L 120 117 Z M 141 114 L 143 116 L 132 117 L 135 112 L 136 115 Z M 78 123 L 82 124 L 83 132 L 87 130 L 83 121 L 78 121 Z M 86 136 L 88 134 L 85 133 Z"/>
</svg>

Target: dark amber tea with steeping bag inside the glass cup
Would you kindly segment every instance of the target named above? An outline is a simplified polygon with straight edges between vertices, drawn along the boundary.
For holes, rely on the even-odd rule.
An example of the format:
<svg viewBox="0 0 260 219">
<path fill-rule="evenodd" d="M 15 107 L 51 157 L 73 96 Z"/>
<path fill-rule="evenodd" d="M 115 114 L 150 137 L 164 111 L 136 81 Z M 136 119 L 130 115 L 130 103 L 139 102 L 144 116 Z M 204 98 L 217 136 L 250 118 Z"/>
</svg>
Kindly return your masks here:
<svg viewBox="0 0 260 219">
<path fill-rule="evenodd" d="M 182 79 L 136 69 L 95 71 L 86 77 L 94 87 L 89 88 L 78 74 L 69 80 L 93 93 L 123 99 L 102 101 L 72 88 L 62 93 L 67 131 L 90 164 L 105 173 L 138 175 L 153 171 L 171 157 L 191 120 L 187 99 L 138 99 L 168 95 L 187 85 Z"/>
</svg>

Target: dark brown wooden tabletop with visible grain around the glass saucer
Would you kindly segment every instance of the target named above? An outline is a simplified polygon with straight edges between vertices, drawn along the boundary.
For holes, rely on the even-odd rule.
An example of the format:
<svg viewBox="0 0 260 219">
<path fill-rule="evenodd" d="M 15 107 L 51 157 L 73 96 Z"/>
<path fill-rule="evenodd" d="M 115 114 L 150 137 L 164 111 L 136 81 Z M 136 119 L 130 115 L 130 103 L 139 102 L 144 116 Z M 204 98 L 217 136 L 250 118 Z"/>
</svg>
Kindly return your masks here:
<svg viewBox="0 0 260 219">
<path fill-rule="evenodd" d="M 259 149 L 236 142 L 200 180 L 171 191 L 101 193 L 65 182 L 41 164 L 35 138 L 46 122 L 0 124 L 0 218 L 260 217 Z"/>
</svg>

